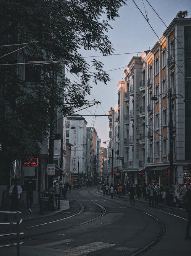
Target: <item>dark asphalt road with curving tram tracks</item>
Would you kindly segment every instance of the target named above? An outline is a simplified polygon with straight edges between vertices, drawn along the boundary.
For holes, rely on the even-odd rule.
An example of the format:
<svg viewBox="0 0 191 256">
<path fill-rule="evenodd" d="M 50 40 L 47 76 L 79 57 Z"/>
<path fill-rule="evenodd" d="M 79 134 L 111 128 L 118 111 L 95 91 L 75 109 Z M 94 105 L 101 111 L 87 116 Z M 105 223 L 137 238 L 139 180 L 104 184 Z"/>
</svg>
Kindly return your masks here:
<svg viewBox="0 0 191 256">
<path fill-rule="evenodd" d="M 70 209 L 21 224 L 21 256 L 190 254 L 191 240 L 184 240 L 186 213 L 150 208 L 143 202 L 132 206 L 128 197 L 111 199 L 95 187 L 73 190 L 67 200 Z M 0 248 L 0 252 L 13 256 L 16 247 Z"/>
</svg>

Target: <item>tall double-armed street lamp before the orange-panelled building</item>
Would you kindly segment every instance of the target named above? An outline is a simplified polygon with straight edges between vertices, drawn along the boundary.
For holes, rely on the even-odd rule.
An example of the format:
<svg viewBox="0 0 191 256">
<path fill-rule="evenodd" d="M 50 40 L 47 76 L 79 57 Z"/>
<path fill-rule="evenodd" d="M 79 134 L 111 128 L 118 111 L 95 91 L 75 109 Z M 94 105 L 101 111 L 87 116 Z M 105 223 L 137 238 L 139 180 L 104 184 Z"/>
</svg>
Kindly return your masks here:
<svg viewBox="0 0 191 256">
<path fill-rule="evenodd" d="M 169 102 L 169 135 L 170 135 L 170 150 L 169 150 L 169 157 L 170 157 L 170 186 L 174 184 L 174 166 L 173 166 L 173 119 L 172 119 L 172 98 L 177 98 L 178 96 L 181 96 L 180 94 L 172 94 L 172 89 L 169 89 L 168 94 L 161 93 L 159 96 L 165 95 L 168 98 Z M 157 101 L 158 98 L 156 95 L 151 97 L 152 101 Z"/>
</svg>

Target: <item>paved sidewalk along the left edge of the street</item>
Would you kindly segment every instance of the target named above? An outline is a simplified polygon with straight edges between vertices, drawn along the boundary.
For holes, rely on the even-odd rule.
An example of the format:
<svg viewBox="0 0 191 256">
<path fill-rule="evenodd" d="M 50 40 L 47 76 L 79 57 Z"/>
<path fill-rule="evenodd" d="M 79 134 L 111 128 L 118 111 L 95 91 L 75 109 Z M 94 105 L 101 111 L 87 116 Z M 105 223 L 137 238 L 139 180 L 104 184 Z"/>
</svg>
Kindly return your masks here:
<svg viewBox="0 0 191 256">
<path fill-rule="evenodd" d="M 60 200 L 60 210 L 56 209 L 55 211 L 43 211 L 43 214 L 39 213 L 40 206 L 39 205 L 33 205 L 32 206 L 32 213 L 29 214 L 27 211 L 26 205 L 21 205 L 19 207 L 19 211 L 22 213 L 23 222 L 24 221 L 30 221 L 30 220 L 37 220 L 39 218 L 44 218 L 46 216 L 52 216 L 57 213 L 61 213 L 62 211 L 70 209 L 70 204 L 68 200 Z M 7 206 L 0 206 L 0 211 L 9 211 L 9 208 Z M 4 214 L 0 213 L 0 220 L 3 220 Z"/>
</svg>

